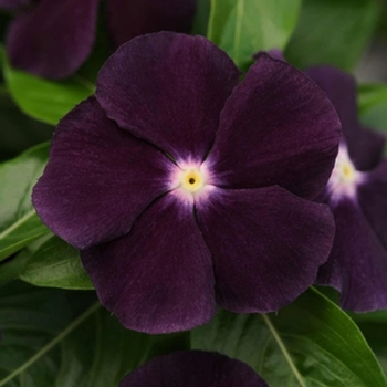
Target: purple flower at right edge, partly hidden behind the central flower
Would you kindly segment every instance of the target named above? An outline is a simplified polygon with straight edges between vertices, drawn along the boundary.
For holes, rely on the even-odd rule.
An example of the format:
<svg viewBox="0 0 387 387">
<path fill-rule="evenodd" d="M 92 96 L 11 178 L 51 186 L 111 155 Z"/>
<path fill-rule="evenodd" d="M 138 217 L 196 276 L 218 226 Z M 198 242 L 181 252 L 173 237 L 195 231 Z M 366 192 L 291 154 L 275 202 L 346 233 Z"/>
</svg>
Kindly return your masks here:
<svg viewBox="0 0 387 387">
<path fill-rule="evenodd" d="M 323 200 L 336 221 L 328 262 L 317 283 L 341 293 L 355 312 L 387 307 L 387 160 L 385 137 L 357 119 L 355 80 L 321 66 L 307 74 L 326 92 L 342 121 L 344 138 Z"/>
</svg>

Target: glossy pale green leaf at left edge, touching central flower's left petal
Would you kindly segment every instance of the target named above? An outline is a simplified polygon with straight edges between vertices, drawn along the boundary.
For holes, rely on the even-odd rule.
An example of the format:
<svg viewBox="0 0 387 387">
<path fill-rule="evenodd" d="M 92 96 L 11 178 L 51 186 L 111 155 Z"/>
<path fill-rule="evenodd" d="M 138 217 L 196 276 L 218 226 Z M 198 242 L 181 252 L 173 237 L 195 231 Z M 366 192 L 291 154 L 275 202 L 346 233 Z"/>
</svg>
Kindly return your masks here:
<svg viewBox="0 0 387 387">
<path fill-rule="evenodd" d="M 0 261 L 49 232 L 31 203 L 32 187 L 42 175 L 49 145 L 29 149 L 0 165 Z"/>
</svg>

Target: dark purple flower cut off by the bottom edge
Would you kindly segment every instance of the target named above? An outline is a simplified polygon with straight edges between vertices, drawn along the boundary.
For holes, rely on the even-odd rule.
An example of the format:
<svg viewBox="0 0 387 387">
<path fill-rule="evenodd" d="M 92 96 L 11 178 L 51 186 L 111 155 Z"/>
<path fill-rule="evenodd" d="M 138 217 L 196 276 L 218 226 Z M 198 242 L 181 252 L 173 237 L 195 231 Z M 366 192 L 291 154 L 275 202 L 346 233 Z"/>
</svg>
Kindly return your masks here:
<svg viewBox="0 0 387 387">
<path fill-rule="evenodd" d="M 268 387 L 247 364 L 201 351 L 155 357 L 125 376 L 119 387 Z"/>
</svg>

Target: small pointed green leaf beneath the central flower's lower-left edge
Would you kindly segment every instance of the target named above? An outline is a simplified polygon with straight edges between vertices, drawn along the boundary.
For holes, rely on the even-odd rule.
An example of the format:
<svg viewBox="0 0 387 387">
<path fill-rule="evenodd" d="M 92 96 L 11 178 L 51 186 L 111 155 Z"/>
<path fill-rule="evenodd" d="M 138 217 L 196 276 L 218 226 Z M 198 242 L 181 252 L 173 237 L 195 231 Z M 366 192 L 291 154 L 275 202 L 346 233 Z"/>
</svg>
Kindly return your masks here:
<svg viewBox="0 0 387 387">
<path fill-rule="evenodd" d="M 36 286 L 93 289 L 80 252 L 57 237 L 51 237 L 32 253 L 20 279 Z"/>
</svg>

